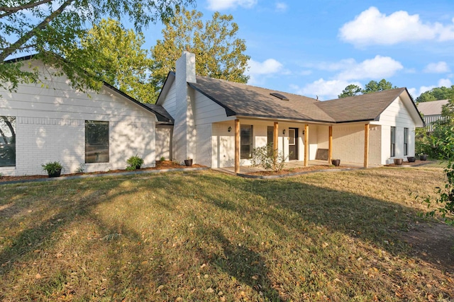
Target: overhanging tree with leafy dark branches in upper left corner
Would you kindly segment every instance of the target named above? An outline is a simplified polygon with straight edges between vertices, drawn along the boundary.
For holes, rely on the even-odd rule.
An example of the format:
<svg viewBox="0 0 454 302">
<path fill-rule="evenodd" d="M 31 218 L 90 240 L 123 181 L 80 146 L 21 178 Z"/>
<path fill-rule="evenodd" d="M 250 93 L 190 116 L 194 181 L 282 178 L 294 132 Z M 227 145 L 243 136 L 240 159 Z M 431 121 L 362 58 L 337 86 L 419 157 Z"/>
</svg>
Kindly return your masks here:
<svg viewBox="0 0 454 302">
<path fill-rule="evenodd" d="M 128 18 L 135 29 L 157 20 L 167 21 L 176 8 L 195 0 L 16 0 L 0 4 L 0 87 L 13 91 L 18 83 L 38 81 L 38 71 L 23 71 L 23 64 L 6 64 L 11 55 L 38 53 L 37 58 L 62 69 L 74 88 L 100 88 L 79 66 L 90 57 L 84 52 L 64 59 L 78 47 L 85 24 L 102 16 Z M 96 79 L 95 79 L 96 80 Z M 99 80 L 99 79 L 97 79 Z"/>
</svg>

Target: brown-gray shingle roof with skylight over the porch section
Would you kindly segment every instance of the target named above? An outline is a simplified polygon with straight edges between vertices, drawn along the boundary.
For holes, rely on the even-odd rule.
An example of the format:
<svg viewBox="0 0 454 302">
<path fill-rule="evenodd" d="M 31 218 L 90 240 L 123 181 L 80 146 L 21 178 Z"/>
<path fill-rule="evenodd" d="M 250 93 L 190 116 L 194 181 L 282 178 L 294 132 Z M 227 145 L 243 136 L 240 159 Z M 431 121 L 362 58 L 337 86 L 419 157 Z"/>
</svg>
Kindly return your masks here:
<svg viewBox="0 0 454 302">
<path fill-rule="evenodd" d="M 319 101 L 302 95 L 273 91 L 241 83 L 196 77 L 189 86 L 226 108 L 227 116 L 265 117 L 304 122 L 356 122 L 378 120 L 385 110 L 406 88 L 369 93 L 349 98 Z M 279 93 L 282 100 L 270 93 Z"/>
</svg>

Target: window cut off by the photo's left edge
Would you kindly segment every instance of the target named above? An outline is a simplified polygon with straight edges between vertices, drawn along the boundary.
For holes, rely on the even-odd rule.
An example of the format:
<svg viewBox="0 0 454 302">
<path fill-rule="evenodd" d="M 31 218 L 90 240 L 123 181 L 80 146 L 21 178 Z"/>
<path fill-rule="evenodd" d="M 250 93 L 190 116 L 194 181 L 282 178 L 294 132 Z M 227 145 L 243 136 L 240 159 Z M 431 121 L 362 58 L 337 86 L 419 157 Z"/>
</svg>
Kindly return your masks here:
<svg viewBox="0 0 454 302">
<path fill-rule="evenodd" d="M 16 165 L 16 117 L 0 115 L 0 167 Z"/>
</svg>

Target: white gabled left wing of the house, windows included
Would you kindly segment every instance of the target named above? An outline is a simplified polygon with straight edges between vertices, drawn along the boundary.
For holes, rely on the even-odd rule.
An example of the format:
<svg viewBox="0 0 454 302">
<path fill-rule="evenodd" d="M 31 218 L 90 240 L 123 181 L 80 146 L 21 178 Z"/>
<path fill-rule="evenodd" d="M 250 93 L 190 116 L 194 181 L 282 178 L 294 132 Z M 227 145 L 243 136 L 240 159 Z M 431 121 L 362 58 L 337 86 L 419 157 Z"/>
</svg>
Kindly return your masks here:
<svg viewBox="0 0 454 302">
<path fill-rule="evenodd" d="M 21 59 L 42 73 L 55 71 L 33 57 Z M 50 161 L 60 161 L 63 173 L 81 166 L 87 172 L 124 169 L 126 159 L 135 155 L 145 167 L 155 165 L 157 128 L 172 124 L 165 110 L 158 112 L 107 83 L 87 95 L 64 76 L 42 80 L 44 86 L 21 84 L 17 92 L 0 91 L 1 174 L 45 174 L 41 164 Z"/>
</svg>

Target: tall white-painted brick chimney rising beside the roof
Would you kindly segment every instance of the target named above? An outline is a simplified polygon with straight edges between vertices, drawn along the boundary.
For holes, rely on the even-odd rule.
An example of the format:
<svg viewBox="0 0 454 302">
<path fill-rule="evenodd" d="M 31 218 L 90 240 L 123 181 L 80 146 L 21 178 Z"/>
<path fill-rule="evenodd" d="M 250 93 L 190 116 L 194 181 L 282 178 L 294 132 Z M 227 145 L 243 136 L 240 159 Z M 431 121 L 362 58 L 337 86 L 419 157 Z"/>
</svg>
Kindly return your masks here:
<svg viewBox="0 0 454 302">
<path fill-rule="evenodd" d="M 188 83 L 196 83 L 196 56 L 183 52 L 175 67 L 175 159 L 181 163 L 192 158 L 196 163 L 196 127 L 194 120 L 194 90 Z"/>
</svg>

